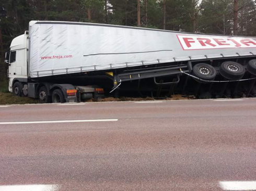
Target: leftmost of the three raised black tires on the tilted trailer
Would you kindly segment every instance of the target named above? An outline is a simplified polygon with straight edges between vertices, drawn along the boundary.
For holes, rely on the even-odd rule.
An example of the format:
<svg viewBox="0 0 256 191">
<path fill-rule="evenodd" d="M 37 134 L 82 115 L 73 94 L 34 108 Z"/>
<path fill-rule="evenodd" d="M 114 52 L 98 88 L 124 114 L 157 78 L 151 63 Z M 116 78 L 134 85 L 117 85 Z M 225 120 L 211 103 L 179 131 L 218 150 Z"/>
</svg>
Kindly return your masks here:
<svg viewBox="0 0 256 191">
<path fill-rule="evenodd" d="M 207 63 L 197 63 L 193 67 L 193 75 L 202 80 L 212 81 L 215 79 L 216 74 L 217 74 L 217 72 L 216 72 L 215 68 L 212 67 L 211 65 L 208 65 Z M 197 82 L 200 82 L 200 83 L 210 83 L 210 82 L 202 81 L 202 80 L 195 79 L 195 78 L 194 78 L 194 80 Z"/>
</svg>

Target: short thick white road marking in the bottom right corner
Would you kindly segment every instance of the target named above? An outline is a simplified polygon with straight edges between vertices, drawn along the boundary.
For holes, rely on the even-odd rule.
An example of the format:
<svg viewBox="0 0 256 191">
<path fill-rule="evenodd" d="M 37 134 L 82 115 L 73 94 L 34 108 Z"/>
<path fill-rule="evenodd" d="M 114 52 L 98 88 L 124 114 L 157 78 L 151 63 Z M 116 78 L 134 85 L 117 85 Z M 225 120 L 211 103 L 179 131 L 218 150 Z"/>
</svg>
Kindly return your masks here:
<svg viewBox="0 0 256 191">
<path fill-rule="evenodd" d="M 256 181 L 222 181 L 219 184 L 224 190 L 256 190 Z"/>
</svg>

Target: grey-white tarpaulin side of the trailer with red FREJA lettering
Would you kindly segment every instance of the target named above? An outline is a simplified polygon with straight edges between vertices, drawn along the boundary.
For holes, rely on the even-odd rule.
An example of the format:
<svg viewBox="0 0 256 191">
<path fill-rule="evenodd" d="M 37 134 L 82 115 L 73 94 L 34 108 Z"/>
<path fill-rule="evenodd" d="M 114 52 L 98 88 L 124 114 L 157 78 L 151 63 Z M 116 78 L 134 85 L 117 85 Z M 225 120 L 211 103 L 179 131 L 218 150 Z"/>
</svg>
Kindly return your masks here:
<svg viewBox="0 0 256 191">
<path fill-rule="evenodd" d="M 256 54 L 255 37 L 107 24 L 31 21 L 29 37 L 31 78 Z"/>
</svg>

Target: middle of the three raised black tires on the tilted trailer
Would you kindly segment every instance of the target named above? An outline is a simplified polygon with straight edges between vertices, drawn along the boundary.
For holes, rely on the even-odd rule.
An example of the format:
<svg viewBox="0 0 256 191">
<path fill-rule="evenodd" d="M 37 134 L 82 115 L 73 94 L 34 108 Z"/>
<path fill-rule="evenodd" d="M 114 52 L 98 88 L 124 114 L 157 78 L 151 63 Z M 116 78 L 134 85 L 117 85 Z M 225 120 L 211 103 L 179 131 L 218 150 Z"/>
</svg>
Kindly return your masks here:
<svg viewBox="0 0 256 191">
<path fill-rule="evenodd" d="M 219 67 L 219 73 L 229 80 L 240 80 L 246 70 L 240 63 L 234 61 L 225 61 Z"/>
</svg>

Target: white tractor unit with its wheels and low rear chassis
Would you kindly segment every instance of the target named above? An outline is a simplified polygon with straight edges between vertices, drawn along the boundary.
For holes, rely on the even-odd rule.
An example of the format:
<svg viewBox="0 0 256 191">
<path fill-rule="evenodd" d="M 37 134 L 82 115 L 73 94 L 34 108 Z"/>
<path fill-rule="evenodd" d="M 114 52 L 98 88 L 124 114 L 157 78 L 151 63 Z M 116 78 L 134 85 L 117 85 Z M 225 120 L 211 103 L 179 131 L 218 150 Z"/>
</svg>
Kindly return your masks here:
<svg viewBox="0 0 256 191">
<path fill-rule="evenodd" d="M 31 21 L 29 27 L 37 21 Z M 5 54 L 8 63 L 9 92 L 16 96 L 39 98 L 40 103 L 77 102 L 104 96 L 98 86 L 74 86 L 62 81 L 31 79 L 29 75 L 29 31 L 13 39 L 10 50 Z M 77 99 L 77 96 L 79 99 Z"/>
</svg>

